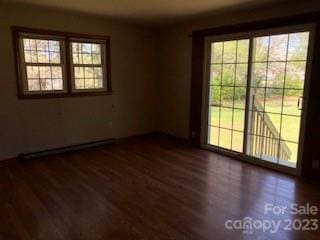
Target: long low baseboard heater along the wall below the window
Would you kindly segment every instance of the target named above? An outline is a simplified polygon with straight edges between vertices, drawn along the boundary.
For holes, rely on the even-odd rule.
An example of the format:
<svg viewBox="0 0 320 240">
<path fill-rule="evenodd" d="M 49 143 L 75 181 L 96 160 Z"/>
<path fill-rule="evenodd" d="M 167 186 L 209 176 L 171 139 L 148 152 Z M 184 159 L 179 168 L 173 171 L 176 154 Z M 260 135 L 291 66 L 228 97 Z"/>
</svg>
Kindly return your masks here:
<svg viewBox="0 0 320 240">
<path fill-rule="evenodd" d="M 71 145 L 66 147 L 53 148 L 53 149 L 43 150 L 39 152 L 23 153 L 19 156 L 19 159 L 20 160 L 35 159 L 35 158 L 55 155 L 59 153 L 74 152 L 74 151 L 88 149 L 88 148 L 101 147 L 101 146 L 113 144 L 115 142 L 116 140 L 112 138 L 107 140 L 76 144 L 76 145 Z"/>
</svg>

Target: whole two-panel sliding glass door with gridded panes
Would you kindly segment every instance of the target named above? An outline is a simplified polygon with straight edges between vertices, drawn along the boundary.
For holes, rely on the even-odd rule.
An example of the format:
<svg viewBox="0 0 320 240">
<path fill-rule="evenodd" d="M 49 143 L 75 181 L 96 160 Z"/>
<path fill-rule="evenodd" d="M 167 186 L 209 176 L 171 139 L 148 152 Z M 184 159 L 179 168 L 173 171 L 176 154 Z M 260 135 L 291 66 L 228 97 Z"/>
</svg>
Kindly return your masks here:
<svg viewBox="0 0 320 240">
<path fill-rule="evenodd" d="M 296 168 L 310 26 L 207 41 L 205 144 Z"/>
</svg>

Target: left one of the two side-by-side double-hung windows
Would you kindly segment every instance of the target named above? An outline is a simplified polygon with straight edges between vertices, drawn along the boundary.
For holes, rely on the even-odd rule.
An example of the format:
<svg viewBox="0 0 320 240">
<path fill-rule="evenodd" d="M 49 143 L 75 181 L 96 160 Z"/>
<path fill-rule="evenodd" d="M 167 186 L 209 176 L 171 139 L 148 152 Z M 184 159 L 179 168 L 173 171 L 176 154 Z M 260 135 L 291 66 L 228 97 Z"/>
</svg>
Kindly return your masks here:
<svg viewBox="0 0 320 240">
<path fill-rule="evenodd" d="M 64 42 L 58 37 L 21 34 L 21 87 L 25 94 L 66 92 Z"/>
</svg>

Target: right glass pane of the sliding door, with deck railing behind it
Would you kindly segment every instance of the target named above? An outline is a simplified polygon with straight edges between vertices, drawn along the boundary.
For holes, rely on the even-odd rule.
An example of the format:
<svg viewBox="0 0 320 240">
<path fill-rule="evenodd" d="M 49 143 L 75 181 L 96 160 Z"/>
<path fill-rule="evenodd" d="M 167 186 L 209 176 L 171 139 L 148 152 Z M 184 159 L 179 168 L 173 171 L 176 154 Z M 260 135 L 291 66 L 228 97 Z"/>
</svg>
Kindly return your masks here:
<svg viewBox="0 0 320 240">
<path fill-rule="evenodd" d="M 247 154 L 296 167 L 309 32 L 253 39 Z"/>
</svg>

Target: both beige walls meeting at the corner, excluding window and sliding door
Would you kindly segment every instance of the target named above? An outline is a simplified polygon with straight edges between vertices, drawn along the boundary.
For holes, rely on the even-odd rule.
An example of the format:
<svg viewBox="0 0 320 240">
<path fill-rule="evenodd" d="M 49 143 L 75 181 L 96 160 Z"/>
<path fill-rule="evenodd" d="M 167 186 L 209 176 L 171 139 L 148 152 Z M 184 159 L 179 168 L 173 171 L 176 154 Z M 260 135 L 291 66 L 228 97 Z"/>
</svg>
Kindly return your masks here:
<svg viewBox="0 0 320 240">
<path fill-rule="evenodd" d="M 157 130 L 187 138 L 191 80 L 188 35 L 192 30 L 320 9 L 317 1 L 305 2 L 162 29 L 45 8 L 0 6 L 0 159 Z M 18 100 L 11 25 L 109 35 L 114 93 Z"/>
</svg>

